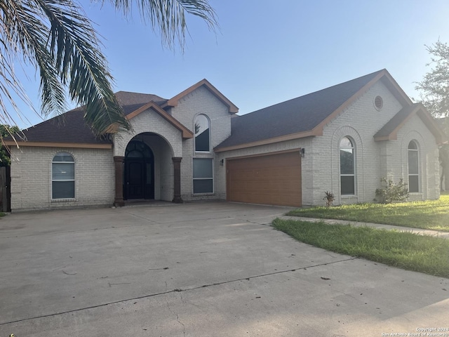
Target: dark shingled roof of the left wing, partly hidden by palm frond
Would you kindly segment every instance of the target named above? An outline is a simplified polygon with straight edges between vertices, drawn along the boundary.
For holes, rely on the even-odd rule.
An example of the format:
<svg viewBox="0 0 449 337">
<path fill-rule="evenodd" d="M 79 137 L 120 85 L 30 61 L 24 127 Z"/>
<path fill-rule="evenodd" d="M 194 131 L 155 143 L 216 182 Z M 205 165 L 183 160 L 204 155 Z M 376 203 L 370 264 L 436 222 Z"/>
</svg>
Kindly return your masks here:
<svg viewBox="0 0 449 337">
<path fill-rule="evenodd" d="M 119 91 L 115 95 L 126 115 L 151 101 L 158 105 L 167 101 L 158 95 L 146 93 Z M 110 140 L 96 137 L 85 123 L 83 115 L 83 108 L 78 107 L 23 130 L 23 135 L 19 134 L 16 140 L 21 141 L 25 135 L 24 140 L 28 142 L 112 144 Z M 5 140 L 11 140 L 11 137 L 6 137 Z"/>
</svg>

